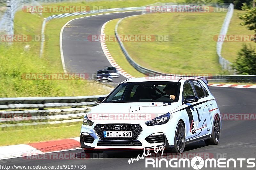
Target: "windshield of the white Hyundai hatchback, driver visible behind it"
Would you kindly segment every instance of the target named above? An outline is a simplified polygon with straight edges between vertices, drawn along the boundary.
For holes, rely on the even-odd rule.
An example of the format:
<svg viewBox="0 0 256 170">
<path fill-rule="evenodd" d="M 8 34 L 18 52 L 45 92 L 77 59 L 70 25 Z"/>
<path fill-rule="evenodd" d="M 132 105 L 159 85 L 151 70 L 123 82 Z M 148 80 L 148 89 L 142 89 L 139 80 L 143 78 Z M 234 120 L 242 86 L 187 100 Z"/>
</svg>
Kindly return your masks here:
<svg viewBox="0 0 256 170">
<path fill-rule="evenodd" d="M 180 82 L 132 82 L 118 85 L 103 103 L 177 102 Z M 172 98 L 170 97 L 171 95 Z"/>
</svg>

